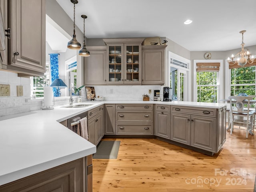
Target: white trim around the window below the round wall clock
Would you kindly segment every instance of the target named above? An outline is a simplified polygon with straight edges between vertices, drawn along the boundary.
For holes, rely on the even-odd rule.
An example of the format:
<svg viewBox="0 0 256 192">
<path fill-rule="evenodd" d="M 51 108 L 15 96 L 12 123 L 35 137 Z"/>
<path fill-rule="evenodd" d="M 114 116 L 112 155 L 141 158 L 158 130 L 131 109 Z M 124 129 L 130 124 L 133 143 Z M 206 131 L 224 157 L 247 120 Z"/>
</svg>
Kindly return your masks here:
<svg viewBox="0 0 256 192">
<path fill-rule="evenodd" d="M 197 85 L 196 85 L 196 63 L 220 63 L 220 70 L 217 73 L 217 87 L 218 87 L 218 95 L 216 101 L 218 102 L 218 99 L 222 99 L 223 97 L 223 60 L 205 60 L 205 59 L 199 59 L 199 60 L 194 60 L 194 81 L 193 81 L 193 101 L 197 101 Z"/>
</svg>

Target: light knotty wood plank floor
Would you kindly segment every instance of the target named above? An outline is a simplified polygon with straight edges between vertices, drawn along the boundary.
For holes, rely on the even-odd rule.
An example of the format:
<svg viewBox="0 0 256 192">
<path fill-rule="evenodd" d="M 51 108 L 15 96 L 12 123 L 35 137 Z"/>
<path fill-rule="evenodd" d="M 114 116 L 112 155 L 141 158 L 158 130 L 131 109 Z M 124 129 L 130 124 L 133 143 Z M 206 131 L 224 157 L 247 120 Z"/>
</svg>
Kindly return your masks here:
<svg viewBox="0 0 256 192">
<path fill-rule="evenodd" d="M 93 192 L 253 192 L 256 136 L 226 135 L 214 156 L 157 139 L 104 139 L 121 144 L 117 159 L 93 159 Z"/>
</svg>

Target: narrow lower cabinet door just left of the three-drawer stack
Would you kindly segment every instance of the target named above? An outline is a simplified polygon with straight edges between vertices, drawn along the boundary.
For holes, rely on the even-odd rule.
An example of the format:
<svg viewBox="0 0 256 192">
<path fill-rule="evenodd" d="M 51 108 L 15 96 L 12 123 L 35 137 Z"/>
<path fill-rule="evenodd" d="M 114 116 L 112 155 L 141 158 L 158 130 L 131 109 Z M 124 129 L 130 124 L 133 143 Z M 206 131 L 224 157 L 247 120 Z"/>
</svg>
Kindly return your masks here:
<svg viewBox="0 0 256 192">
<path fill-rule="evenodd" d="M 115 104 L 105 104 L 105 135 L 115 135 L 116 134 L 116 105 Z"/>
</svg>

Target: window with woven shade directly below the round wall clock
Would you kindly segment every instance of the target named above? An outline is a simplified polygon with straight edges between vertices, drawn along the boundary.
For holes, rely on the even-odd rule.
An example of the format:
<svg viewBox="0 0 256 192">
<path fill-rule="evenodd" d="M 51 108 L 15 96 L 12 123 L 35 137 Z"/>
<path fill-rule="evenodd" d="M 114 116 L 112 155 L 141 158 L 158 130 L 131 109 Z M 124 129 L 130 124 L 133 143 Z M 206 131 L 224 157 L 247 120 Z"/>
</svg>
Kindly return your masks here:
<svg viewBox="0 0 256 192">
<path fill-rule="evenodd" d="M 224 98 L 222 74 L 222 60 L 194 60 L 194 101 L 216 103 Z"/>
</svg>

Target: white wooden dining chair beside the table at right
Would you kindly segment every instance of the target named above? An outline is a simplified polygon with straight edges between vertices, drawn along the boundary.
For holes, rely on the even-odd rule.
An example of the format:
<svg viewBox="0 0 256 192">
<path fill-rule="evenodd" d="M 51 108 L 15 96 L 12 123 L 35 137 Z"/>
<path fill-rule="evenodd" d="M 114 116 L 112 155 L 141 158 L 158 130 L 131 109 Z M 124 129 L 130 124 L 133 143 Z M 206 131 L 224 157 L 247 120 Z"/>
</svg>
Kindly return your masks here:
<svg viewBox="0 0 256 192">
<path fill-rule="evenodd" d="M 246 138 L 248 138 L 248 132 L 252 133 L 252 123 L 254 112 L 250 111 L 250 100 L 252 97 L 246 96 L 230 96 L 230 121 L 231 129 L 230 135 L 232 135 L 234 129 L 240 129 L 241 127 L 246 127 L 246 129 L 240 129 L 246 131 Z M 246 105 L 246 107 L 244 106 Z M 239 128 L 234 127 L 238 125 Z"/>
</svg>

